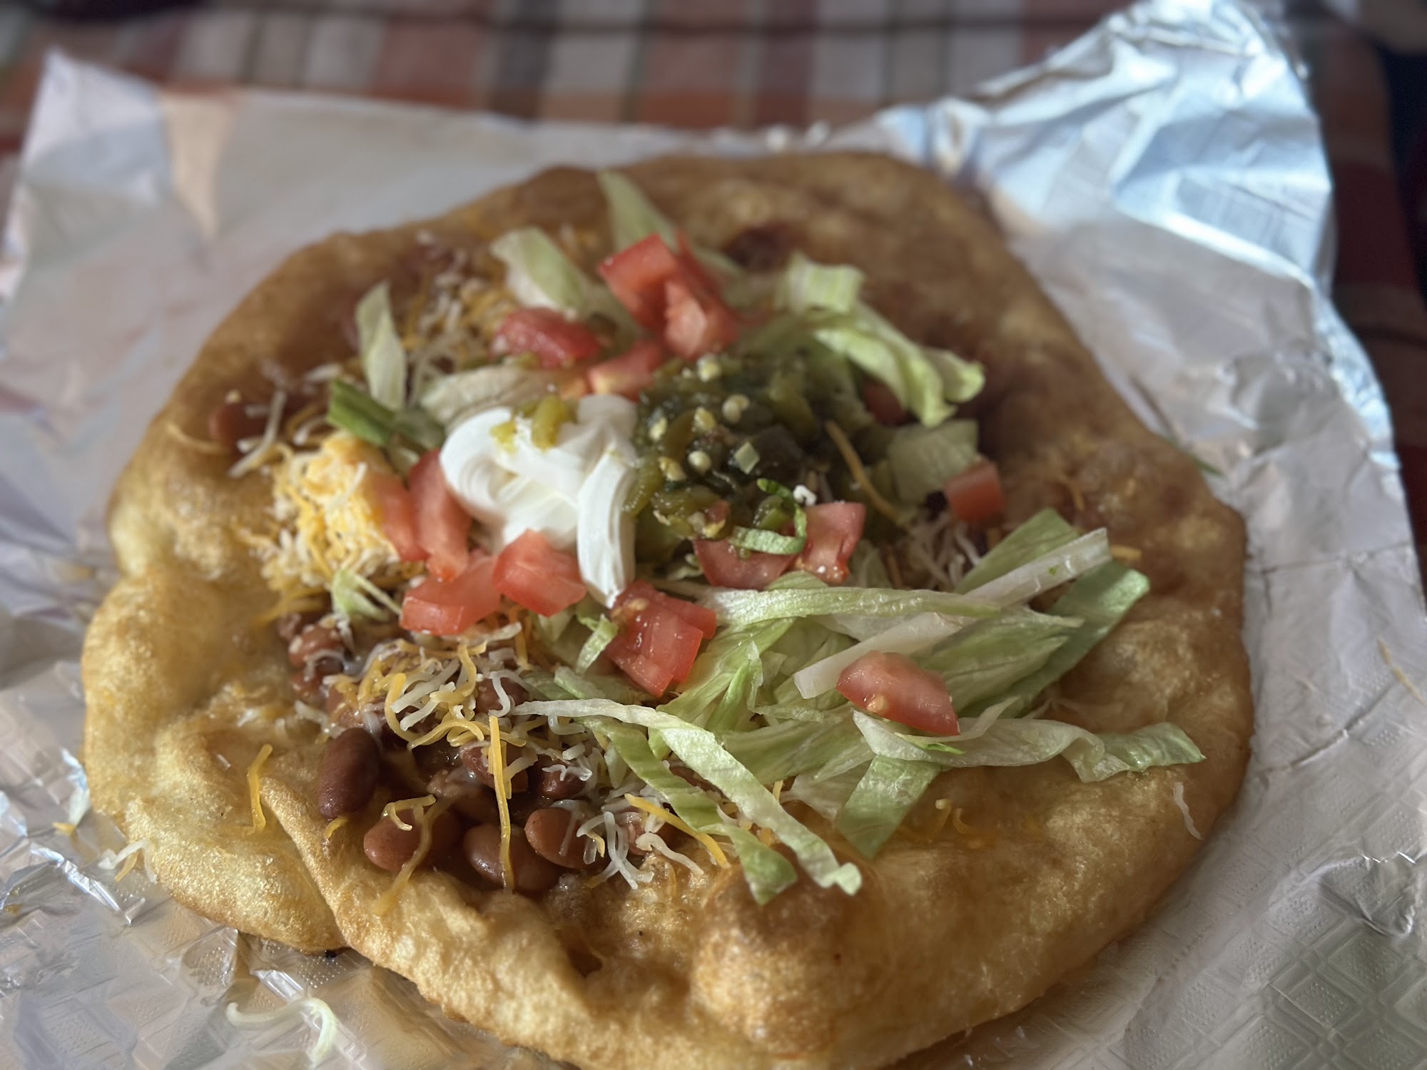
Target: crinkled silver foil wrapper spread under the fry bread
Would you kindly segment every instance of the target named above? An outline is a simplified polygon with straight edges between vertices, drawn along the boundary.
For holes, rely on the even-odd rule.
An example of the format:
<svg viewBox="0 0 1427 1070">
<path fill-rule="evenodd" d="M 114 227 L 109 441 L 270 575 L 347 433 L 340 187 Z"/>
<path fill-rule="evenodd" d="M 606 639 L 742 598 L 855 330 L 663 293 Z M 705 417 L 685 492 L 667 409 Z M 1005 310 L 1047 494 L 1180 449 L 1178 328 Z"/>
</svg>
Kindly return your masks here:
<svg viewBox="0 0 1427 1070">
<path fill-rule="evenodd" d="M 1427 1053 L 1427 622 L 1388 414 L 1329 301 L 1331 188 L 1291 54 L 1251 10 L 1143 3 L 965 100 L 845 130 L 689 134 L 260 91 L 53 57 L 0 263 L 0 1064 L 538 1067 L 352 952 L 214 926 L 84 816 L 104 504 L 224 312 L 294 247 L 554 163 L 882 147 L 980 191 L 1156 431 L 1249 522 L 1259 730 L 1234 807 L 1129 939 L 933 1067 L 1390 1067 Z M 955 949 L 953 952 L 955 953 Z"/>
</svg>

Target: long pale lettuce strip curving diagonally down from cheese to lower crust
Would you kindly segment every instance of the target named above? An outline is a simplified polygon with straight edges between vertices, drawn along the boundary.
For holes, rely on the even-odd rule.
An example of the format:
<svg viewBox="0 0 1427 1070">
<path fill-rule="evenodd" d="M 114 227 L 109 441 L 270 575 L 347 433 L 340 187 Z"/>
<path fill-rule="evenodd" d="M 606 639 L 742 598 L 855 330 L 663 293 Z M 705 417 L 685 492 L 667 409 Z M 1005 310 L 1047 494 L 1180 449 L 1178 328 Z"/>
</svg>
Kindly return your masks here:
<svg viewBox="0 0 1427 1070">
<path fill-rule="evenodd" d="M 839 863 L 821 836 L 782 807 L 743 765 L 725 750 L 712 732 L 648 706 L 618 702 L 527 702 L 517 708 L 534 716 L 565 716 L 578 720 L 612 718 L 646 729 L 658 729 L 669 748 L 689 769 L 719 789 L 748 820 L 769 829 L 786 843 L 819 887 L 836 885 L 848 895 L 862 887 L 862 872 L 852 863 Z"/>
</svg>

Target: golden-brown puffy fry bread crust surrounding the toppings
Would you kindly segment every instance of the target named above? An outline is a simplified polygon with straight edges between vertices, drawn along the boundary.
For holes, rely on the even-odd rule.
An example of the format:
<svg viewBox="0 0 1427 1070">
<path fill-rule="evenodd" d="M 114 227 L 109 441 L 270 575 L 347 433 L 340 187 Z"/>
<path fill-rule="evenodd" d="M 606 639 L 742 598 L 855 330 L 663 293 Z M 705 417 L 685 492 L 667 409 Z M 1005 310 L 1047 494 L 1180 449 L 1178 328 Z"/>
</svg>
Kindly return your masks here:
<svg viewBox="0 0 1427 1070">
<path fill-rule="evenodd" d="M 228 479 L 164 425 L 201 435 L 208 408 L 264 360 L 300 368 L 344 355 L 332 310 L 397 268 L 408 227 L 332 238 L 278 268 L 204 348 L 126 474 L 113 516 L 126 579 L 84 661 L 96 805 L 153 840 L 161 879 L 203 913 L 303 947 L 340 933 L 450 1013 L 559 1059 L 885 1064 L 1022 1006 L 1137 924 L 1199 846 L 1176 785 L 1203 832 L 1233 799 L 1251 732 L 1243 528 L 1114 395 L 989 224 L 932 175 L 856 154 L 672 158 L 631 174 L 711 245 L 789 225 L 813 258 L 862 267 L 873 304 L 909 334 L 986 364 L 976 408 L 1012 518 L 1053 505 L 1104 525 L 1143 555 L 1153 584 L 1065 695 L 1092 729 L 1173 720 L 1207 760 L 1090 785 L 1062 762 L 948 773 L 863 866 L 856 897 L 802 880 L 761 909 L 736 872 L 689 880 L 664 867 L 641 890 L 574 882 L 534 903 L 425 872 L 374 917 L 390 876 L 361 857 L 358 822 L 324 843 L 313 749 L 261 722 L 215 728 L 241 705 L 225 683 L 281 686 L 275 642 L 244 632 L 261 598 L 233 538 L 265 484 Z M 529 223 L 601 230 L 602 218 L 592 177 L 557 170 L 434 225 L 469 240 Z M 228 836 L 225 853 L 204 855 L 247 822 L 241 765 L 263 742 L 277 749 L 263 790 L 283 833 Z M 231 769 L 205 756 L 223 746 Z M 919 833 L 939 798 L 975 832 Z M 263 899 L 274 889 L 277 905 Z"/>
</svg>

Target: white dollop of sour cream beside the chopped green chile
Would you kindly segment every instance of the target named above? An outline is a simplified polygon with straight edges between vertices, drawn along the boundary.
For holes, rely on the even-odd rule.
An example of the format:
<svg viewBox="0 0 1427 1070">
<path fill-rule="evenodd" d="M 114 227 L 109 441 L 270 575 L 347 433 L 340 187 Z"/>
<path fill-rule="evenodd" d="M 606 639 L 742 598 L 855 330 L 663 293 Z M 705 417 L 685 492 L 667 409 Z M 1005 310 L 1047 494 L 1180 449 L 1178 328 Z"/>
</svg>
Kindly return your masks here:
<svg viewBox="0 0 1427 1070">
<path fill-rule="evenodd" d="M 585 586 L 609 605 L 634 579 L 634 519 L 624 512 L 638 465 L 631 437 L 635 404 L 589 394 L 555 444 L 531 441 L 531 421 L 508 405 L 482 409 L 451 428 L 441 471 L 457 501 L 485 525 L 492 551 L 527 531 L 575 551 Z M 492 434 L 514 421 L 514 437 Z"/>
</svg>

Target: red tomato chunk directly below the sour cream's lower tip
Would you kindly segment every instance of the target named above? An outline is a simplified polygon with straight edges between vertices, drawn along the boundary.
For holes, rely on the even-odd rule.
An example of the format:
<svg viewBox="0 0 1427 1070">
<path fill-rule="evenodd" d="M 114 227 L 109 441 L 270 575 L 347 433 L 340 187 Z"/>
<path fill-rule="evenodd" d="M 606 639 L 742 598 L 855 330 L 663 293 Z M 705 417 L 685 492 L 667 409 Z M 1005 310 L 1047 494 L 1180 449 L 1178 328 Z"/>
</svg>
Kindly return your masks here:
<svg viewBox="0 0 1427 1070">
<path fill-rule="evenodd" d="M 704 639 L 714 635 L 712 611 L 671 598 L 635 581 L 615 601 L 619 623 L 605 655 L 638 686 L 654 696 L 682 683 L 694 669 Z"/>
</svg>

